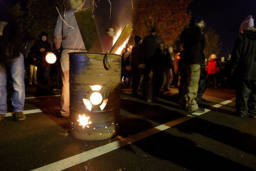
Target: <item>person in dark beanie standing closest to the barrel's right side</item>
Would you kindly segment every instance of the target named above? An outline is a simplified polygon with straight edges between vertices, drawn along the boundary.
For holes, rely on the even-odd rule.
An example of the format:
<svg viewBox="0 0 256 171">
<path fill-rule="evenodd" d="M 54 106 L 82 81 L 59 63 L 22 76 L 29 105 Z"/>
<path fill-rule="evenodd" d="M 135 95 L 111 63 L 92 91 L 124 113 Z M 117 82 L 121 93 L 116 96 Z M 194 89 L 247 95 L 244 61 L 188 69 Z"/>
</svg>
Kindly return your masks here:
<svg viewBox="0 0 256 171">
<path fill-rule="evenodd" d="M 134 44 L 130 54 L 130 66 L 132 69 L 132 96 L 139 97 L 138 87 L 140 84 L 141 70 L 139 68 L 140 62 L 140 45 L 142 38 L 138 35 L 134 36 Z"/>
</svg>

